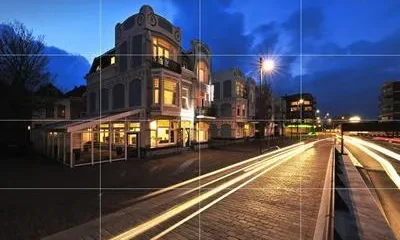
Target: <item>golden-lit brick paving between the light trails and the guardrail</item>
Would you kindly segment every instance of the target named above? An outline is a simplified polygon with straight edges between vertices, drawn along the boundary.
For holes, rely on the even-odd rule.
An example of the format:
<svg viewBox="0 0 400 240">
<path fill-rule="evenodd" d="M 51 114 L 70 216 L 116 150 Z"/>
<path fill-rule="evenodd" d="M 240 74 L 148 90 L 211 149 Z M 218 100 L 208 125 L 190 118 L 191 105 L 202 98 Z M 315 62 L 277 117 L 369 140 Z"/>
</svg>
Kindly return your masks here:
<svg viewBox="0 0 400 240">
<path fill-rule="evenodd" d="M 164 239 L 312 239 L 331 146 L 317 144 Z"/>
</svg>

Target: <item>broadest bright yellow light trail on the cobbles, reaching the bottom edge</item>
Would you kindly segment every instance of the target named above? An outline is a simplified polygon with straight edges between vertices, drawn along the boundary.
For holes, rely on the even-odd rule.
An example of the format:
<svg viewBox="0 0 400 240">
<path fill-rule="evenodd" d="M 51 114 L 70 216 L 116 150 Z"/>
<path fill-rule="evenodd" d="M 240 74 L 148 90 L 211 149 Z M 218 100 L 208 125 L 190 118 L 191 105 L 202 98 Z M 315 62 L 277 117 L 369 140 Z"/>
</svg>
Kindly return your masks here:
<svg viewBox="0 0 400 240">
<path fill-rule="evenodd" d="M 205 193 L 203 193 L 203 194 L 201 194 L 201 195 L 199 195 L 199 196 L 197 196 L 197 197 L 195 197 L 195 198 L 193 198 L 193 199 L 191 199 L 191 200 L 188 200 L 188 201 L 186 201 L 186 202 L 184 202 L 184 203 L 182 203 L 182 204 L 176 205 L 176 206 L 170 208 L 169 210 L 167 210 L 166 212 L 162 213 L 161 215 L 156 216 L 156 217 L 154 217 L 154 218 L 148 220 L 147 222 L 141 223 L 140 225 L 138 225 L 138 226 L 136 226 L 136 227 L 133 227 L 132 229 L 130 229 L 130 230 L 128 230 L 128 231 L 126 231 L 126 232 L 124 232 L 124 233 L 122 233 L 122 234 L 119 234 L 119 235 L 113 237 L 111 240 L 127 240 L 127 239 L 132 239 L 132 238 L 138 236 L 139 234 L 144 233 L 145 231 L 147 231 L 147 230 L 153 228 L 154 226 L 157 226 L 157 225 L 159 225 L 160 223 L 162 223 L 162 222 L 164 222 L 164 221 L 170 219 L 171 217 L 174 217 L 174 216 L 176 216 L 177 214 L 180 214 L 180 213 L 182 213 L 183 211 L 188 210 L 190 207 L 195 206 L 196 204 L 200 203 L 201 201 L 204 201 L 204 200 L 208 199 L 209 197 L 214 196 L 215 194 L 221 192 L 222 190 L 227 189 L 227 188 L 231 187 L 232 185 L 234 185 L 234 184 L 236 184 L 236 183 L 238 183 L 238 182 L 240 182 L 240 181 L 245 180 L 245 179 L 248 178 L 248 177 L 251 177 L 252 175 L 256 174 L 256 173 L 259 172 L 259 171 L 262 171 L 261 173 L 257 174 L 257 175 L 254 176 L 253 178 L 251 178 L 251 181 L 253 181 L 253 180 L 256 179 L 257 177 L 259 177 L 259 176 L 261 176 L 262 174 L 264 174 L 264 173 L 266 173 L 267 171 L 269 171 L 270 169 L 269 169 L 268 167 L 271 167 L 271 168 L 272 168 L 272 166 L 280 165 L 281 163 L 287 161 L 288 159 L 294 157 L 295 155 L 297 155 L 297 154 L 299 154 L 299 153 L 305 151 L 306 149 L 312 147 L 315 143 L 316 143 L 316 142 L 312 142 L 312 143 L 308 143 L 308 144 L 304 144 L 304 143 L 303 143 L 303 144 L 300 144 L 300 145 L 297 146 L 297 147 L 294 147 L 294 148 L 291 149 L 291 150 L 288 150 L 288 151 L 287 151 L 286 153 L 284 153 L 284 154 L 280 154 L 280 155 L 278 155 L 278 156 L 274 156 L 274 157 L 272 157 L 269 161 L 264 162 L 264 163 L 261 164 L 260 166 L 258 166 L 258 167 L 256 167 L 256 168 L 252 169 L 251 171 L 245 172 L 245 173 L 243 173 L 242 175 L 240 175 L 240 176 L 238 176 L 238 177 L 236 177 L 236 178 L 234 178 L 234 179 L 231 179 L 231 180 L 229 180 L 229 181 L 227 181 L 227 182 L 225 182 L 225 183 L 223 183 L 223 184 L 221 184 L 221 185 L 219 185 L 219 186 L 217 186 L 217 187 L 215 187 L 215 188 L 213 188 L 213 189 L 211 189 L 211 190 L 209 190 L 209 191 L 207 191 L 207 192 L 205 192 Z M 265 157 L 265 155 L 264 155 L 263 157 Z M 260 158 L 260 157 L 257 157 L 256 159 L 259 159 L 259 158 Z M 250 159 L 249 159 L 249 160 L 250 160 Z M 247 160 L 247 161 L 249 161 L 249 160 Z M 254 159 L 253 159 L 253 160 L 254 160 Z M 274 165 L 274 164 L 275 164 L 275 165 Z M 230 168 L 232 168 L 232 167 L 230 167 Z M 229 168 L 228 168 L 228 169 L 229 169 Z M 211 176 L 211 175 L 213 175 L 213 174 L 210 174 L 209 176 Z M 191 180 L 189 180 L 189 181 L 191 181 Z M 248 180 L 248 181 L 246 181 L 245 183 L 247 184 L 247 183 L 249 183 L 249 182 L 251 182 L 251 181 Z M 232 189 L 232 190 L 230 191 L 229 194 L 233 193 L 234 191 L 237 191 L 237 190 L 238 190 L 240 187 L 242 187 L 242 186 L 244 186 L 244 185 L 241 184 L 241 185 L 239 185 L 239 187 L 236 187 L 236 188 Z M 233 191 L 233 190 L 234 190 L 234 191 Z M 229 194 L 228 194 L 228 195 L 229 195 Z M 228 196 L 228 195 L 226 195 L 226 196 Z M 225 197 L 226 197 L 226 196 L 225 196 Z M 224 197 L 218 198 L 218 199 L 219 199 L 218 201 L 222 200 L 223 198 L 224 198 Z M 214 203 L 213 203 L 213 204 L 215 204 L 216 202 L 218 202 L 218 201 L 216 201 L 216 202 L 215 202 L 215 201 L 216 201 L 216 200 L 214 200 Z M 212 205 L 212 204 L 211 204 L 211 205 Z M 209 205 L 209 206 L 207 205 L 207 206 L 210 207 L 211 205 Z M 205 209 L 203 209 L 203 211 L 204 211 L 204 210 L 205 210 Z M 189 216 L 192 216 L 192 217 L 193 217 L 193 216 L 195 216 L 195 215 L 196 215 L 196 214 L 194 214 L 194 215 L 193 215 L 193 214 L 190 214 Z M 188 219 L 192 218 L 192 217 L 189 218 L 189 216 L 185 218 L 186 221 L 187 221 Z M 184 220 L 185 220 L 185 219 L 184 219 Z M 183 221 L 183 220 L 182 220 L 182 221 Z M 181 223 L 182 221 L 180 221 L 179 223 Z M 182 222 L 182 223 L 183 223 L 183 222 Z M 182 224 L 182 223 L 181 223 L 181 224 Z M 177 224 L 178 224 L 178 223 L 177 223 Z M 172 227 L 175 226 L 174 228 L 176 228 L 177 226 L 179 226 L 179 225 L 177 225 L 177 224 L 174 224 Z M 172 227 L 170 227 L 170 228 L 172 228 Z M 168 228 L 168 229 L 170 229 L 170 228 Z M 172 230 L 172 229 L 171 229 L 171 230 Z"/>
</svg>

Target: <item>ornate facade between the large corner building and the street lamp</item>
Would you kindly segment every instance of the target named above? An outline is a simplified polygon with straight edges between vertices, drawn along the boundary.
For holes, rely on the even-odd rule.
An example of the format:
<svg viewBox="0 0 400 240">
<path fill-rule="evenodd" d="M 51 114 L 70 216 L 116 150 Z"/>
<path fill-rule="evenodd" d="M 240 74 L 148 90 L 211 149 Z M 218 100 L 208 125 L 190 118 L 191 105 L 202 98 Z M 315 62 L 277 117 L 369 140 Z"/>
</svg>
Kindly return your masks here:
<svg viewBox="0 0 400 240">
<path fill-rule="evenodd" d="M 211 138 L 238 139 L 254 136 L 255 84 L 238 69 L 213 74 L 213 109 L 217 120 L 210 124 Z"/>
</svg>

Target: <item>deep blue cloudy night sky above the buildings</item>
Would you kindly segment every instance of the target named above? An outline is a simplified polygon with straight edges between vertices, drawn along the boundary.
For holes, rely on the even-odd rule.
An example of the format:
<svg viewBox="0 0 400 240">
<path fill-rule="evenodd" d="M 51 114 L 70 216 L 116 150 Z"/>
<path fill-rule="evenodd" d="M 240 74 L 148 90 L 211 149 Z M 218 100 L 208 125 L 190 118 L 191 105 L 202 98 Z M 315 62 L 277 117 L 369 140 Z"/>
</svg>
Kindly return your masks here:
<svg viewBox="0 0 400 240">
<path fill-rule="evenodd" d="M 280 55 L 278 72 L 268 77 L 277 94 L 311 92 L 322 112 L 376 118 L 380 86 L 400 80 L 400 1 L 300 3 L 13 0 L 0 3 L 0 22 L 15 19 L 45 35 L 46 52 L 56 55 L 50 69 L 67 90 L 84 84 L 93 58 L 114 46 L 115 24 L 149 4 L 182 28 L 185 49 L 194 38 L 210 46 L 214 71 L 238 66 L 256 75 L 258 55 Z"/>
</svg>

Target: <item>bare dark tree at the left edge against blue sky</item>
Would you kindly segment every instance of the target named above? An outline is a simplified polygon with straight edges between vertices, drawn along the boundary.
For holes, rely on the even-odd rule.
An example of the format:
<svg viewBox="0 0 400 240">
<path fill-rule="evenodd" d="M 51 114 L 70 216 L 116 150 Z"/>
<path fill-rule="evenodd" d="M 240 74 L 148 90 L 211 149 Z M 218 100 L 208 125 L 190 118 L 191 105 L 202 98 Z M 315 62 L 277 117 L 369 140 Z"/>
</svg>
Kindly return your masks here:
<svg viewBox="0 0 400 240">
<path fill-rule="evenodd" d="M 43 36 L 34 36 L 24 24 L 14 21 L 0 29 L 1 117 L 27 119 L 35 105 L 34 92 L 51 81 L 47 70 Z M 4 111 L 6 110 L 6 111 Z M 7 111 L 8 110 L 8 111 Z"/>
</svg>

